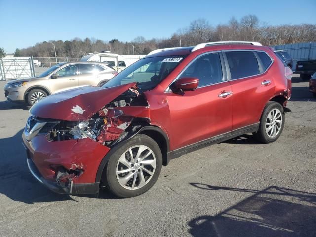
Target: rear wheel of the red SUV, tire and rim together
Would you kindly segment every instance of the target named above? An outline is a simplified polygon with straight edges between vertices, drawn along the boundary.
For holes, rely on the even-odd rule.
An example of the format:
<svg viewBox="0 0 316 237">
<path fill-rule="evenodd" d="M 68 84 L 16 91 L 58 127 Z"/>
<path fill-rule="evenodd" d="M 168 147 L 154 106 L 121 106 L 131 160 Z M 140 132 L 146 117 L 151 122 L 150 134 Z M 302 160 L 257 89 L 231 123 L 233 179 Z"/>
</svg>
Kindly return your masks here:
<svg viewBox="0 0 316 237">
<path fill-rule="evenodd" d="M 280 137 L 284 123 L 283 107 L 275 101 L 269 101 L 261 115 L 259 130 L 254 136 L 262 143 L 274 142 Z"/>
</svg>

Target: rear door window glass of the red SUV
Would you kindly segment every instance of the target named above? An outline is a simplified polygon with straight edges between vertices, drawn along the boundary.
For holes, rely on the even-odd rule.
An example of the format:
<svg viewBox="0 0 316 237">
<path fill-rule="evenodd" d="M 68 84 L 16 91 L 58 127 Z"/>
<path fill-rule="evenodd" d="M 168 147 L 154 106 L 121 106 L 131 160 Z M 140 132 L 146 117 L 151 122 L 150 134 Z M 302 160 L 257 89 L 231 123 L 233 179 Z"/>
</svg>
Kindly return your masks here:
<svg viewBox="0 0 316 237">
<path fill-rule="evenodd" d="M 253 52 L 232 51 L 225 54 L 233 80 L 259 74 L 257 58 Z"/>
</svg>

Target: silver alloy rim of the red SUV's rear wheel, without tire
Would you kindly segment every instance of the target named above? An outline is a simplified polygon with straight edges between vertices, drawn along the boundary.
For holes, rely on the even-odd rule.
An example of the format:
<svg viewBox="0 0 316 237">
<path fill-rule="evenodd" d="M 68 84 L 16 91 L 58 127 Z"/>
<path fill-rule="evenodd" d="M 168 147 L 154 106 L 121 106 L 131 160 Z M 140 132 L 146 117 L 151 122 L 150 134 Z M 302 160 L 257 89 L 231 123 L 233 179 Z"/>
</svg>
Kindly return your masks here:
<svg viewBox="0 0 316 237">
<path fill-rule="evenodd" d="M 282 127 L 282 113 L 279 109 L 273 109 L 269 112 L 266 119 L 266 133 L 269 137 L 275 138 Z"/>
</svg>

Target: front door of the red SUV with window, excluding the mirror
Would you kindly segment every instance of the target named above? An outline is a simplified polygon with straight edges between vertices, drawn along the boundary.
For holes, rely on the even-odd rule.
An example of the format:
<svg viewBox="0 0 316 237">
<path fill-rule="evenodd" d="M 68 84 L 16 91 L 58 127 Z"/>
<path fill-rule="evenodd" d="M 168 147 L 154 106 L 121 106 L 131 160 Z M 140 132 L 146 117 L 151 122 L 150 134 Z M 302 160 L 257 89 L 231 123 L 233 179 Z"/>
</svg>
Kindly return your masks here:
<svg viewBox="0 0 316 237">
<path fill-rule="evenodd" d="M 231 85 L 221 59 L 220 52 L 198 56 L 178 76 L 198 78 L 198 88 L 183 95 L 167 93 L 172 124 L 169 134 L 174 149 L 231 133 Z"/>
</svg>

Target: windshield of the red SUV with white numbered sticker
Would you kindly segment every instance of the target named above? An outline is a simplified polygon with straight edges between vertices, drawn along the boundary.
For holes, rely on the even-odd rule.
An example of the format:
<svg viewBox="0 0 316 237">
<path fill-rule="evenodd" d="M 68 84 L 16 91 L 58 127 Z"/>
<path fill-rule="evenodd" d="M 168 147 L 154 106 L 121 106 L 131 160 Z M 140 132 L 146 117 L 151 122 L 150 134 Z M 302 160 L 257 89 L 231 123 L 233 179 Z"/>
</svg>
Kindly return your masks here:
<svg viewBox="0 0 316 237">
<path fill-rule="evenodd" d="M 143 58 L 127 67 L 102 87 L 108 88 L 136 82 L 142 91 L 156 87 L 186 56 Z"/>
</svg>

